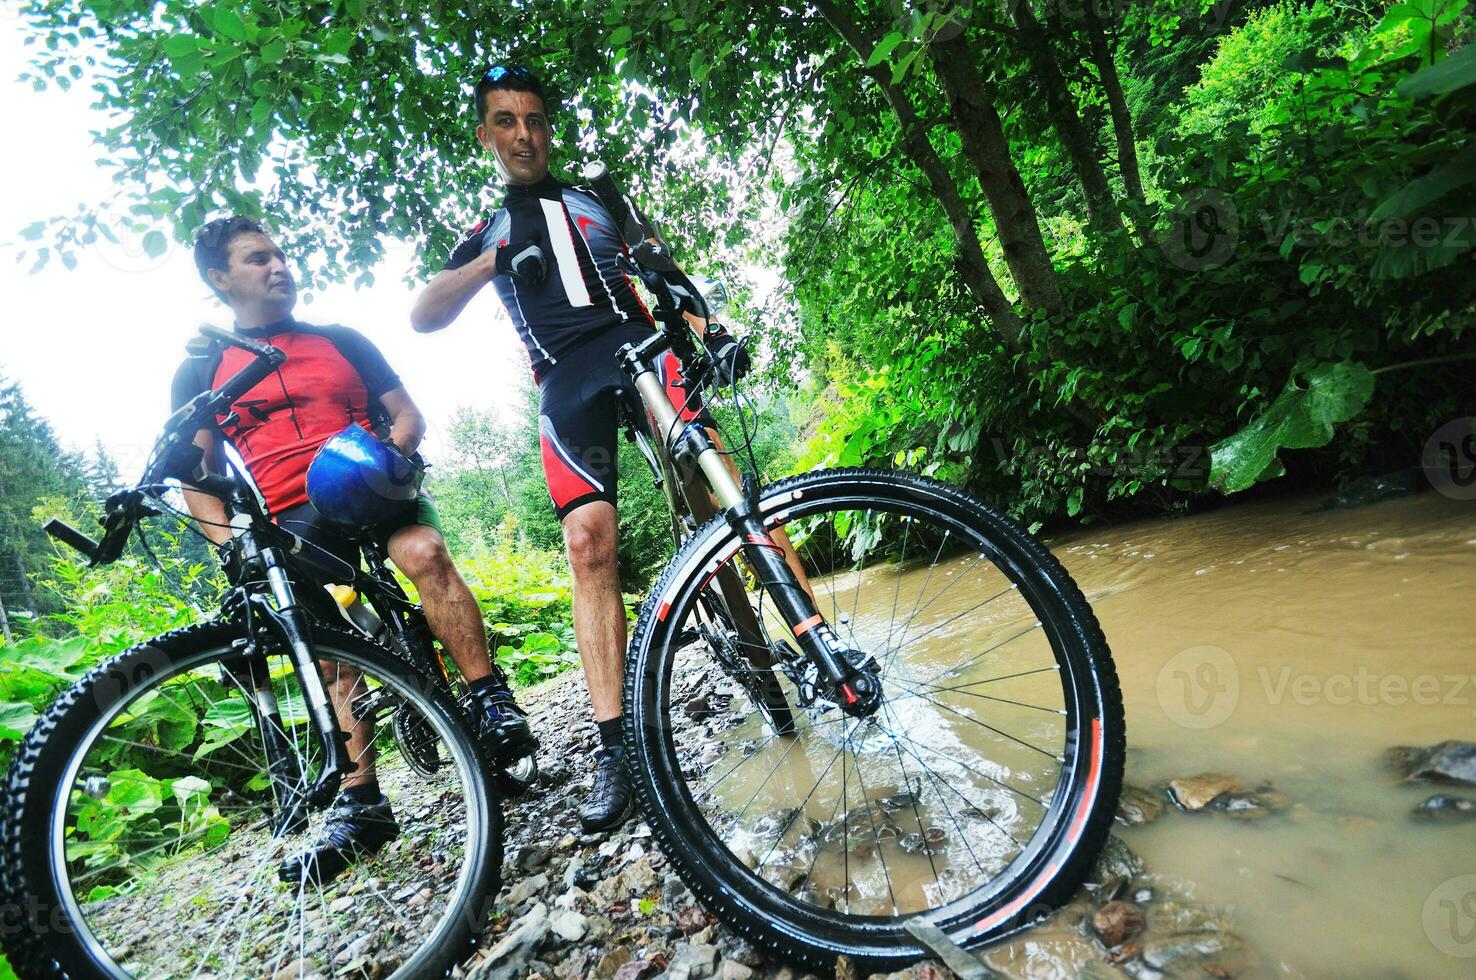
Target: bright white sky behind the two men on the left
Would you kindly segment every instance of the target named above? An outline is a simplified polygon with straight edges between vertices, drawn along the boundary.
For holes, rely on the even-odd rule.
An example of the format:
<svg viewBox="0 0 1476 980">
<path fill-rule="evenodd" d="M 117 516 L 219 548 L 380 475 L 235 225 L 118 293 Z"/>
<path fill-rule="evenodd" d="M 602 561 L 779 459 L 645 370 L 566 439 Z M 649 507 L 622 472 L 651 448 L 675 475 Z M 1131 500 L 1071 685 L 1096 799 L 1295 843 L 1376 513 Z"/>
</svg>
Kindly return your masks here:
<svg viewBox="0 0 1476 980">
<path fill-rule="evenodd" d="M 0 13 L 0 373 L 19 381 L 35 410 L 69 449 L 100 438 L 125 480 L 168 416 L 168 388 L 199 323 L 230 325 L 230 313 L 195 273 L 189 249 L 171 245 L 151 260 L 139 242 L 99 241 L 66 270 L 53 258 L 30 275 L 16 264 L 19 229 L 112 192 L 109 171 L 92 161 L 90 131 L 100 128 L 86 86 L 35 93 L 15 81 L 25 68 L 13 3 Z M 528 373 L 527 354 L 492 289 L 478 295 L 440 334 L 410 331 L 413 291 L 403 285 L 412 245 L 396 244 L 368 289 L 334 286 L 311 304 L 308 323 L 344 323 L 372 339 L 400 373 L 430 422 L 427 455 L 444 455 L 446 428 L 458 406 L 505 410 Z"/>
</svg>

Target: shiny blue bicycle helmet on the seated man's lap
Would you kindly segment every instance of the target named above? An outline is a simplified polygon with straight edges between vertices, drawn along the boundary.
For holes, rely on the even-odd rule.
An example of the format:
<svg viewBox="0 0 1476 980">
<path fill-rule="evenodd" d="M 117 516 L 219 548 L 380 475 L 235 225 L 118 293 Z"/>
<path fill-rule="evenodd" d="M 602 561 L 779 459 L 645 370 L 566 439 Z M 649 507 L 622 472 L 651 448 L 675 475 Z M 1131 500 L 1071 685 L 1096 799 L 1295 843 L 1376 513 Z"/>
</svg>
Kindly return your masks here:
<svg viewBox="0 0 1476 980">
<path fill-rule="evenodd" d="M 366 528 L 415 499 L 421 472 L 362 425 L 348 425 L 323 443 L 307 468 L 307 499 L 329 521 Z"/>
</svg>

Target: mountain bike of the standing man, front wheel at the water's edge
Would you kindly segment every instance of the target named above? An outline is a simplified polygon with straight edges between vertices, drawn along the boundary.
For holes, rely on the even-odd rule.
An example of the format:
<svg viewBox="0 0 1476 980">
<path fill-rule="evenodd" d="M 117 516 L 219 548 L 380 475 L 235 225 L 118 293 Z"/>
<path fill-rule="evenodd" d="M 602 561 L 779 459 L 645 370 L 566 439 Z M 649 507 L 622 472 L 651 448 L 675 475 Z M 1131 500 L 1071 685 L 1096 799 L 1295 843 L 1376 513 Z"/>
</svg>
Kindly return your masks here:
<svg viewBox="0 0 1476 980">
<path fill-rule="evenodd" d="M 620 351 L 623 422 L 683 539 L 624 677 L 661 849 L 720 921 L 821 967 L 896 968 L 1038 921 L 1088 872 L 1122 785 L 1122 694 L 1086 599 L 1030 533 L 942 483 L 760 487 L 751 440 L 725 450 L 657 373 L 670 350 L 689 400 L 714 387 L 685 317 L 711 306 L 610 173 L 584 176 L 654 298 L 651 338 Z M 744 455 L 739 478 L 725 456 Z"/>
</svg>

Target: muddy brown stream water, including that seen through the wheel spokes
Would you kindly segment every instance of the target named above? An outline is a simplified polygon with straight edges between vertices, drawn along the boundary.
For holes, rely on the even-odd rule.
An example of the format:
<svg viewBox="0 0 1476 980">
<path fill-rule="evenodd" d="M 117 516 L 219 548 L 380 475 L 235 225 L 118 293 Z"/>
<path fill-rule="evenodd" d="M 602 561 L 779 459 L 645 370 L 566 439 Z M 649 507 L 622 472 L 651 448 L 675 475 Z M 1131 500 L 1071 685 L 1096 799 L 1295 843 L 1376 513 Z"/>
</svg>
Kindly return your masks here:
<svg viewBox="0 0 1476 980">
<path fill-rule="evenodd" d="M 1476 738 L 1476 506 L 1317 503 L 1051 542 L 1114 652 L 1128 782 L 1162 796 L 1168 779 L 1216 770 L 1293 804 L 1253 822 L 1169 809 L 1117 832 L 1199 921 L 1244 940 L 1249 974 L 1472 976 L 1476 822 L 1414 821 L 1442 788 L 1395 785 L 1380 756 Z M 915 911 L 976 887 L 1027 841 L 1058 772 L 1060 686 L 1033 614 L 974 558 L 812 574 L 856 648 L 906 652 L 905 669 L 883 666 L 918 697 L 897 698 L 874 745 L 827 722 L 793 744 L 763 739 L 748 713 L 729 731 L 739 750 L 694 773 L 719 809 L 750 815 L 729 840 L 781 887 L 803 874 L 809 900 Z M 959 666 L 961 643 L 987 655 Z M 906 756 L 887 751 L 893 732 Z M 849 769 L 834 765 L 843 745 Z M 796 812 L 794 787 L 816 782 Z M 1060 948 L 1072 952 L 1054 962 L 1046 946 L 1026 950 L 1045 956 L 1026 974 L 1075 976 L 1083 948 Z"/>
</svg>

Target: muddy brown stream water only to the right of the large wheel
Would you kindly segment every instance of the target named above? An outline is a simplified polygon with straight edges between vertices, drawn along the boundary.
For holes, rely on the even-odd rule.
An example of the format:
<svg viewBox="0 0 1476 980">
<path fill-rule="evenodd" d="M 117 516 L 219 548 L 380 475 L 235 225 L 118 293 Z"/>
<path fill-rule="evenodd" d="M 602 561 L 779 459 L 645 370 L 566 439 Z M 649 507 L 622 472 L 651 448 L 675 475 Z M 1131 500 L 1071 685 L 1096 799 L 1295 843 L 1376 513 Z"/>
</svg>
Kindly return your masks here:
<svg viewBox="0 0 1476 980">
<path fill-rule="evenodd" d="M 1299 804 L 1119 832 L 1283 976 L 1472 976 L 1476 824 L 1413 821 L 1448 790 L 1392 785 L 1379 757 L 1476 738 L 1476 506 L 1315 503 L 1052 542 L 1113 646 L 1128 781 L 1222 770 Z"/>
</svg>

